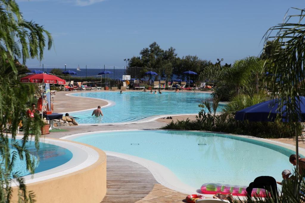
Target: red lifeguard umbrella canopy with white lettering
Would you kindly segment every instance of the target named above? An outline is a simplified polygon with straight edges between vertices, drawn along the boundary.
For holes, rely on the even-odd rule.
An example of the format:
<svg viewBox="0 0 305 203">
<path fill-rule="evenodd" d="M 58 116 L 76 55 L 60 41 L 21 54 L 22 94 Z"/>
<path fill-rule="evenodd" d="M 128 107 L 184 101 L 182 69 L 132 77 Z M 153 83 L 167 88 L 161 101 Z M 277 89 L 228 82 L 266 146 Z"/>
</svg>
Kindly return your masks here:
<svg viewBox="0 0 305 203">
<path fill-rule="evenodd" d="M 28 75 L 20 79 L 20 82 L 32 82 L 32 83 L 50 83 L 65 85 L 66 80 L 61 79 L 55 75 L 49 75 L 45 73 Z"/>
</svg>

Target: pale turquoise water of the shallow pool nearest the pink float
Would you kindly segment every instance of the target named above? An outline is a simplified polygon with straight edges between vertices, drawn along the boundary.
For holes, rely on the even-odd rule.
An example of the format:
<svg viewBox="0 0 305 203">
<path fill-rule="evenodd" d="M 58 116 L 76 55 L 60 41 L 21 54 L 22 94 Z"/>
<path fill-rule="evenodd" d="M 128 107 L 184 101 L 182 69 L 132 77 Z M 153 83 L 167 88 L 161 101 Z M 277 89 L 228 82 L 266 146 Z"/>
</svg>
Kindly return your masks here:
<svg viewBox="0 0 305 203">
<path fill-rule="evenodd" d="M 84 135 L 74 141 L 160 163 L 198 189 L 204 183 L 246 186 L 258 176 L 282 181 L 282 171 L 293 167 L 289 149 L 216 133 L 117 131 Z"/>
</svg>

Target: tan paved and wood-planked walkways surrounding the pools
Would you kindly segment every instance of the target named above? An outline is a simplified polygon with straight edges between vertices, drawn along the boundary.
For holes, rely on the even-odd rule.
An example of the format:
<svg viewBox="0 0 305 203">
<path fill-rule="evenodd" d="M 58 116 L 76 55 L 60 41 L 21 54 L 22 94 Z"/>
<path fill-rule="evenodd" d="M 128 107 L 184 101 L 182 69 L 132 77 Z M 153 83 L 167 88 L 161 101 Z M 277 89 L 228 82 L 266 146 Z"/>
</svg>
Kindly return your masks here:
<svg viewBox="0 0 305 203">
<path fill-rule="evenodd" d="M 89 90 L 90 91 L 90 90 Z M 86 92 L 89 92 L 86 91 Z M 94 92 L 103 92 L 94 91 Z M 107 91 L 107 90 L 106 90 Z M 165 90 L 166 91 L 166 90 Z M 81 91 L 77 91 L 78 93 Z M 82 91 L 84 92 L 84 91 Z M 92 91 L 93 92 L 93 91 Z M 119 92 L 119 91 L 117 91 Z M 75 93 L 70 91 L 56 92 L 54 98 L 54 112 L 70 112 L 77 110 L 86 110 L 96 108 L 97 106 L 107 105 L 106 101 L 67 96 L 66 94 Z M 211 93 L 211 92 L 200 92 Z M 155 121 L 132 124 L 106 124 L 106 125 L 79 125 L 64 126 L 65 132 L 51 132 L 46 137 L 62 138 L 67 135 L 78 133 L 88 133 L 95 131 L 111 131 L 111 130 L 132 130 L 132 129 L 158 129 L 165 126 L 172 120 L 190 120 L 196 119 L 195 115 L 172 116 L 173 119 L 159 118 Z M 295 138 L 279 138 L 271 139 L 291 145 L 295 145 Z M 299 139 L 300 147 L 305 148 L 302 139 Z M 151 172 L 144 166 L 132 162 L 130 160 L 107 156 L 107 193 L 103 202 L 186 202 L 184 199 L 188 194 L 173 191 L 159 184 Z"/>
</svg>

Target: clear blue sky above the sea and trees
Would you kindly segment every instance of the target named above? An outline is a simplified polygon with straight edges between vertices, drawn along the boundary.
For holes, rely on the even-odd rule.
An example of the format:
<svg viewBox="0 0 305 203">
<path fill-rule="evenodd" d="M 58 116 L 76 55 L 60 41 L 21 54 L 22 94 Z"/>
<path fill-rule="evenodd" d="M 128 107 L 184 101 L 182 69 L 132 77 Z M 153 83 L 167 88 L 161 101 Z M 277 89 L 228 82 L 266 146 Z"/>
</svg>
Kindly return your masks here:
<svg viewBox="0 0 305 203">
<path fill-rule="evenodd" d="M 179 57 L 191 54 L 224 63 L 258 56 L 261 39 L 282 23 L 290 7 L 302 0 L 17 0 L 27 20 L 52 33 L 54 48 L 41 64 L 76 68 L 124 66 L 156 41 L 174 47 Z M 27 65 L 38 65 L 37 59 Z"/>
</svg>

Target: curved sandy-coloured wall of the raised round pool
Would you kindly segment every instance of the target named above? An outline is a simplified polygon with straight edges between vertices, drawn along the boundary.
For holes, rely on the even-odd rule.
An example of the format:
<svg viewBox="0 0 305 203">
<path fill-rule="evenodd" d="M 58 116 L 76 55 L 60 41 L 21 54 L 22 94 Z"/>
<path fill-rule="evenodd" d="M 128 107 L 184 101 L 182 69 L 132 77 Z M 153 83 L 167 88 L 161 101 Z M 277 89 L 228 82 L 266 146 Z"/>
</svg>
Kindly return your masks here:
<svg viewBox="0 0 305 203">
<path fill-rule="evenodd" d="M 95 203 L 102 201 L 106 194 L 106 154 L 100 149 L 90 145 L 86 146 L 95 149 L 99 153 L 99 160 L 77 172 L 27 184 L 27 191 L 34 191 L 36 202 Z M 14 187 L 12 202 L 16 201 L 17 187 Z"/>
</svg>

